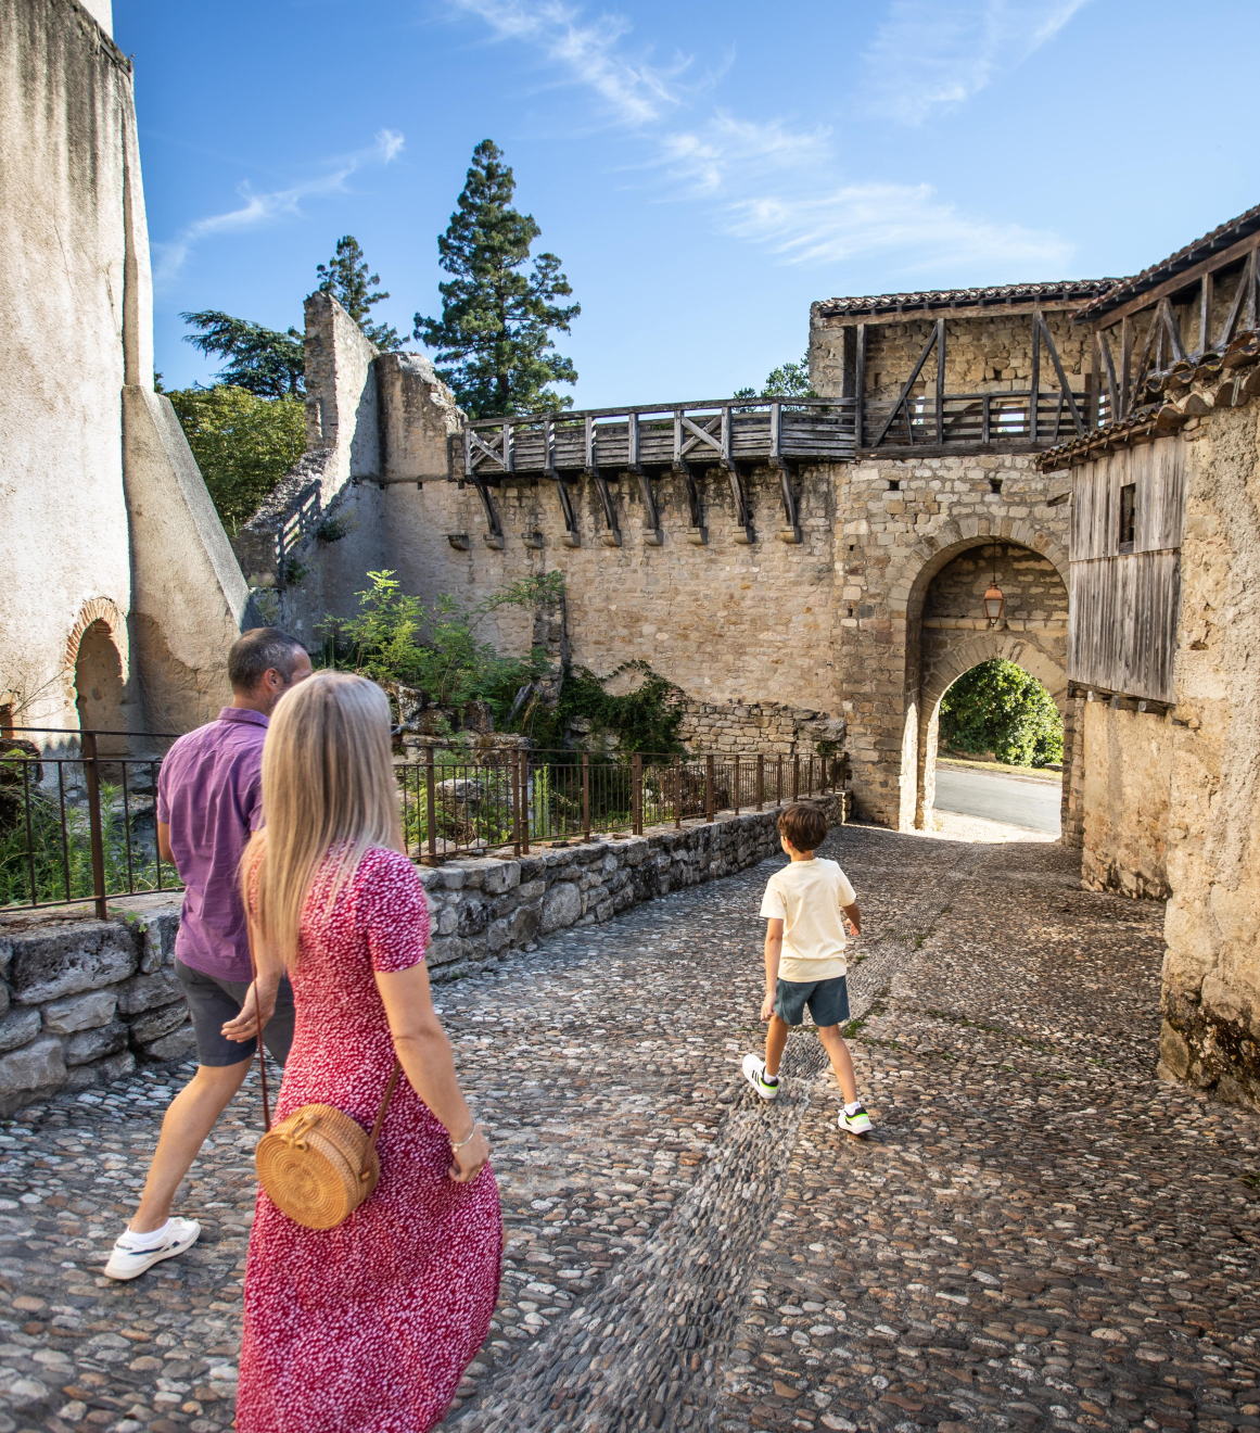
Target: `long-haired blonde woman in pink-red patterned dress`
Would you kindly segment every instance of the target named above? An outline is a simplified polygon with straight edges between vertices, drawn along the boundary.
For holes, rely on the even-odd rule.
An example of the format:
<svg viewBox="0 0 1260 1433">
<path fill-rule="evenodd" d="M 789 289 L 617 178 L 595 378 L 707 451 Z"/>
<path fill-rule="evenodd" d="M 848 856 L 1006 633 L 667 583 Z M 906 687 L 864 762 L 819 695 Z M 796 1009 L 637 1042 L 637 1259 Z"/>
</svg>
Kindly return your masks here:
<svg viewBox="0 0 1260 1433">
<path fill-rule="evenodd" d="M 258 980 L 233 1039 L 288 972 L 296 1005 L 276 1118 L 335 1105 L 365 1129 L 395 1053 L 381 1182 L 332 1230 L 259 1189 L 245 1271 L 238 1433 L 425 1433 L 481 1347 L 503 1255 L 490 1148 L 430 1000 L 428 907 L 401 854 L 384 692 L 319 672 L 276 706 L 266 828 L 242 860 Z"/>
</svg>

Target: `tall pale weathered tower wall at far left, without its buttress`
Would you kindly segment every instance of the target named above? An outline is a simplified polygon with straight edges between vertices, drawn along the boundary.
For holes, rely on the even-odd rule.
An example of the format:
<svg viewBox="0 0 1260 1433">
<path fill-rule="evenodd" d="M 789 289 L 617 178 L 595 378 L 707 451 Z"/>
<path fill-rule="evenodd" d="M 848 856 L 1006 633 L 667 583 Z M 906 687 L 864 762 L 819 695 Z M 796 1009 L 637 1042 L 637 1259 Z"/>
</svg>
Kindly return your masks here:
<svg viewBox="0 0 1260 1433">
<path fill-rule="evenodd" d="M 17 719 L 73 729 L 67 643 L 87 603 L 120 615 L 112 636 L 133 668 L 119 416 L 126 301 L 140 305 L 123 203 L 132 69 L 74 0 L 0 0 L 0 705 L 6 689 L 39 694 Z M 127 698 L 139 721 L 135 684 Z"/>
</svg>

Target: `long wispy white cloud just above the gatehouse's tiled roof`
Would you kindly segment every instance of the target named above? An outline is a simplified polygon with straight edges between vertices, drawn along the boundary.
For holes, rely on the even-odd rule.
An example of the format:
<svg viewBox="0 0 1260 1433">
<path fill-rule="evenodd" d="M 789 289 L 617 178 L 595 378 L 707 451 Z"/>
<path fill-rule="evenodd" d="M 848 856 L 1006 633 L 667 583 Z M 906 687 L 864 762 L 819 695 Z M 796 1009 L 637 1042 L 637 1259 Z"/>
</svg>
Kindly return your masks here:
<svg viewBox="0 0 1260 1433">
<path fill-rule="evenodd" d="M 836 264 L 873 254 L 915 274 L 976 261 L 1024 264 L 1051 277 L 1071 258 L 1058 235 L 959 214 L 931 185 L 845 185 L 819 195 L 735 201 L 727 229 L 792 264 Z"/>
</svg>

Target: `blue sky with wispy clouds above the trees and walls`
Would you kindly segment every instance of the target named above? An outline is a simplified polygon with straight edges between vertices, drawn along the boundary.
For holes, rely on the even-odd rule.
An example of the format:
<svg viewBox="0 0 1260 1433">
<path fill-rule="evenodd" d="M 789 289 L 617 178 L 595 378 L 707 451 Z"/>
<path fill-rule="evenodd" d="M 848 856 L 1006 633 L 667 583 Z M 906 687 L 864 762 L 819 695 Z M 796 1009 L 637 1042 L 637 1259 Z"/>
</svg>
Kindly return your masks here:
<svg viewBox="0 0 1260 1433">
<path fill-rule="evenodd" d="M 168 387 L 354 234 L 411 332 L 493 138 L 581 302 L 578 406 L 709 398 L 836 294 L 1128 274 L 1260 202 L 1260 6 L 115 0 Z M 1183 43 L 1184 42 L 1184 43 Z M 412 347 L 421 347 L 414 344 Z"/>
</svg>

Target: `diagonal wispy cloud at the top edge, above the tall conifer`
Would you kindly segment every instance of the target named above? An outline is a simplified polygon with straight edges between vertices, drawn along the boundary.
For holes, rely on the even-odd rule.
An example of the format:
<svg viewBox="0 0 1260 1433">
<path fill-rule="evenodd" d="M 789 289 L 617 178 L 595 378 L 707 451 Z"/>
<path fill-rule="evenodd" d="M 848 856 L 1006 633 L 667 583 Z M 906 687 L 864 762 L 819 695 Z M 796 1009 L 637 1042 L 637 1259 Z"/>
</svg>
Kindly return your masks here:
<svg viewBox="0 0 1260 1433">
<path fill-rule="evenodd" d="M 646 125 L 682 103 L 676 82 L 692 67 L 690 59 L 676 54 L 662 66 L 649 56 L 623 54 L 621 42 L 631 30 L 623 16 L 584 20 L 578 9 L 561 0 L 451 0 L 451 6 L 484 20 L 497 40 L 533 44 L 567 83 L 597 95 L 620 123 Z"/>
</svg>

